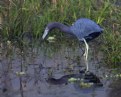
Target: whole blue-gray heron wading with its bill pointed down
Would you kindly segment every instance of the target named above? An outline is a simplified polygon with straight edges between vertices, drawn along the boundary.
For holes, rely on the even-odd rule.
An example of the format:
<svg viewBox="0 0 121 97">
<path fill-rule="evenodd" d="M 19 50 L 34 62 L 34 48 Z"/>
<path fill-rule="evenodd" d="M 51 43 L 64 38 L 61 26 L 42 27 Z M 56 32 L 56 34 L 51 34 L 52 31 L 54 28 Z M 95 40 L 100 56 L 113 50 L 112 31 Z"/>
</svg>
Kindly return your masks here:
<svg viewBox="0 0 121 97">
<path fill-rule="evenodd" d="M 98 37 L 102 33 L 103 29 L 100 28 L 100 26 L 96 24 L 94 21 L 88 18 L 80 18 L 72 26 L 66 26 L 59 22 L 51 22 L 46 26 L 42 39 L 45 39 L 48 32 L 50 32 L 54 28 L 58 28 L 62 32 L 71 34 L 75 36 L 79 41 L 83 41 L 85 43 L 86 47 L 84 58 L 86 61 L 86 71 L 88 71 L 89 66 L 87 58 L 89 46 L 87 42 Z"/>
</svg>

